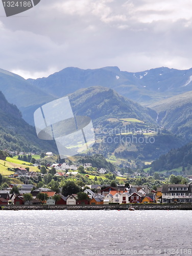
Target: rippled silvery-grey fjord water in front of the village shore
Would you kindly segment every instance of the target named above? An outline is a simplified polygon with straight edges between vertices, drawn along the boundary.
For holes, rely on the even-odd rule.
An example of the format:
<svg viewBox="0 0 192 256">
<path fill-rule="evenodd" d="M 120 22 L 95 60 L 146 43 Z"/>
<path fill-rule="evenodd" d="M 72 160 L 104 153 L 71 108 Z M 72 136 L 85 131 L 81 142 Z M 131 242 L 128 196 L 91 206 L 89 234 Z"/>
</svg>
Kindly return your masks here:
<svg viewBox="0 0 192 256">
<path fill-rule="evenodd" d="M 1 256 L 192 254 L 191 211 L 1 210 L 0 218 Z"/>
</svg>

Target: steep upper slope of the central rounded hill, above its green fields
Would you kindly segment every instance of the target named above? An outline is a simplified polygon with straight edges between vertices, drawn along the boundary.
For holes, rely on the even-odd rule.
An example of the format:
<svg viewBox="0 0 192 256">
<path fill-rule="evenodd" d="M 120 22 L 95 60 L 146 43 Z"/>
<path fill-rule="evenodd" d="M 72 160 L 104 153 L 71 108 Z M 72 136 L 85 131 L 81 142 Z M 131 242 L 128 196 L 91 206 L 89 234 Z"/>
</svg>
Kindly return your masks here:
<svg viewBox="0 0 192 256">
<path fill-rule="evenodd" d="M 157 113 L 133 102 L 112 89 L 90 87 L 69 95 L 71 107 L 76 115 L 89 116 L 94 123 L 110 117 L 137 118 L 145 123 L 157 125 Z"/>
</svg>

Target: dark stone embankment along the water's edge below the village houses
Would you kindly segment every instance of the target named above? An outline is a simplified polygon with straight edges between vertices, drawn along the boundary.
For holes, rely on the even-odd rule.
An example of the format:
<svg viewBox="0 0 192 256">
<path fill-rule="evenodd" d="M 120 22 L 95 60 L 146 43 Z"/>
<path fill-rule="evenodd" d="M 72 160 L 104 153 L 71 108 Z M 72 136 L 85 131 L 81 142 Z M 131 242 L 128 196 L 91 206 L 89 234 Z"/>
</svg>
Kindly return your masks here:
<svg viewBox="0 0 192 256">
<path fill-rule="evenodd" d="M 192 210 L 192 204 L 1 205 L 0 210 Z"/>
</svg>

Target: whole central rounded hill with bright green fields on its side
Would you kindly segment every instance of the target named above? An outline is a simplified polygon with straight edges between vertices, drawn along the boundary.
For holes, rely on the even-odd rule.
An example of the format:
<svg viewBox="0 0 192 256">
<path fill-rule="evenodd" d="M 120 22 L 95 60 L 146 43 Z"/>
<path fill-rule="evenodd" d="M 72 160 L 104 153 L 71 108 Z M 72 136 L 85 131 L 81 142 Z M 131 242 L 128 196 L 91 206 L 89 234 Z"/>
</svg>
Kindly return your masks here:
<svg viewBox="0 0 192 256">
<path fill-rule="evenodd" d="M 93 145 L 90 153 L 101 153 L 105 157 L 110 153 L 120 159 L 154 160 L 172 148 L 182 146 L 185 142 L 167 131 L 162 131 L 161 134 L 155 111 L 119 95 L 112 89 L 104 87 L 81 89 L 70 94 L 69 99 L 74 114 L 91 117 L 96 129 L 96 137 L 103 139 Z M 155 133 L 137 134 L 134 135 L 135 139 L 132 139 L 132 131 L 151 129 Z M 150 136 L 153 137 L 151 140 Z M 145 139 L 147 137 L 149 139 Z M 124 143 L 126 138 L 127 141 L 130 138 L 131 143 Z M 139 138 L 141 143 L 136 142 Z M 152 143 L 149 143 L 149 140 Z"/>
</svg>

